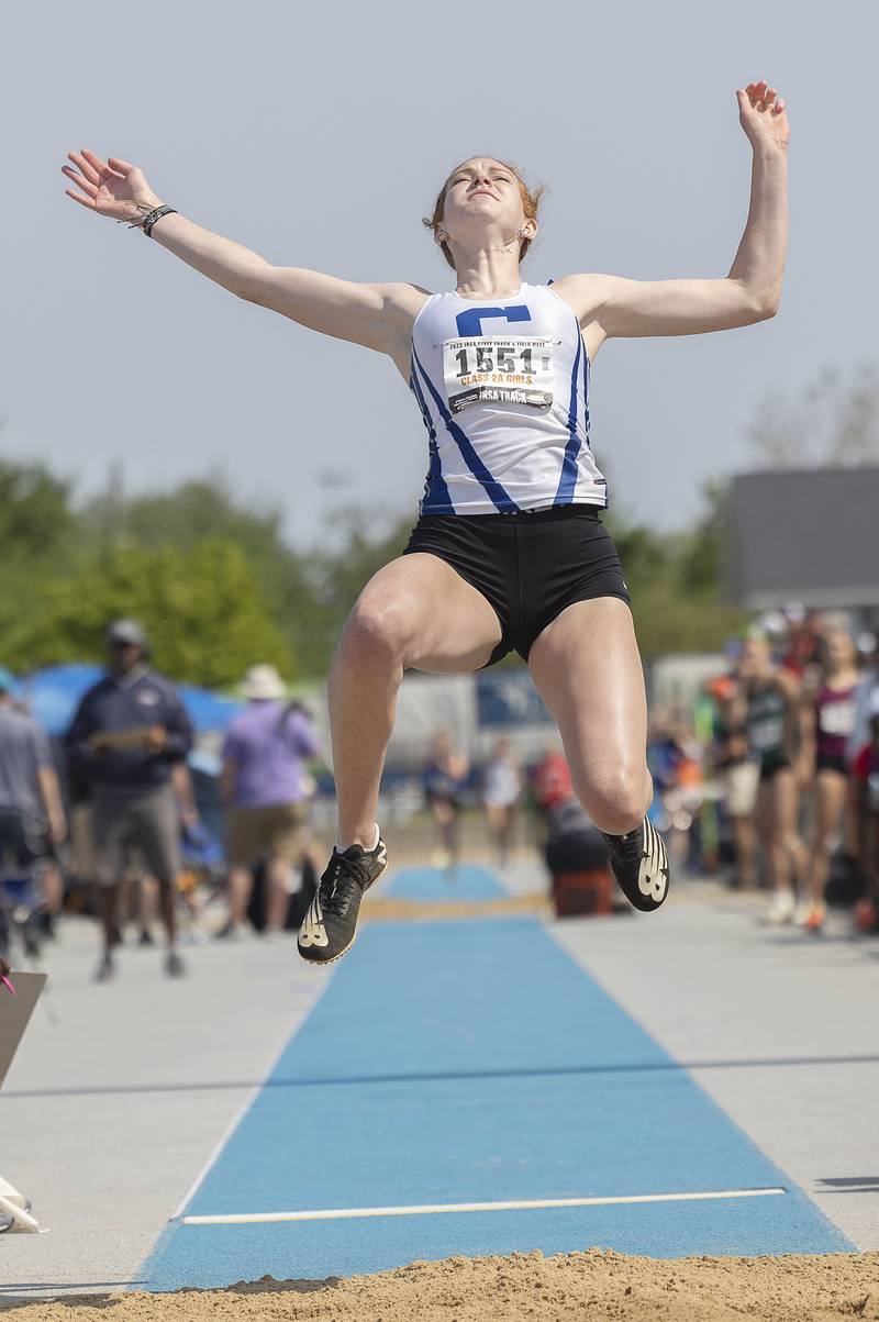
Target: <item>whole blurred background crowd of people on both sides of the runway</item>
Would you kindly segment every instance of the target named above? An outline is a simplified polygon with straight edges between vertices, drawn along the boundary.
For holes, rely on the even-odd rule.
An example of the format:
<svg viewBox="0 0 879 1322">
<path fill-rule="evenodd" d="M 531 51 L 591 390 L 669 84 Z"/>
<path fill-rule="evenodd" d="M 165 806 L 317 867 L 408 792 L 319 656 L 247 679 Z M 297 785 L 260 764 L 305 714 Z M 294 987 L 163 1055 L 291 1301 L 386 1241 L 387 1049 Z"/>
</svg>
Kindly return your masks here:
<svg viewBox="0 0 879 1322">
<path fill-rule="evenodd" d="M 309 713 L 288 701 L 272 666 L 251 666 L 239 685 L 246 705 L 223 734 L 211 814 L 190 759 L 192 722 L 153 669 L 143 628 L 116 620 L 106 644 L 106 673 L 54 747 L 0 668 L 0 954 L 13 937 L 33 954 L 65 900 L 99 919 L 98 981 L 116 974 L 127 923 L 139 944 L 155 943 L 156 915 L 165 973 L 185 973 L 180 928 L 206 939 L 205 894 L 223 906 L 219 939 L 248 924 L 270 940 L 297 927 L 321 866 Z M 855 639 L 845 619 L 789 609 L 734 640 L 723 673 L 686 707 L 653 709 L 650 816 L 679 878 L 726 869 L 731 887 L 763 888 L 765 924 L 818 933 L 837 904 L 859 931 L 879 931 L 876 665 L 875 639 Z M 526 767 L 500 738 L 473 767 L 439 730 L 420 795 L 431 861 L 449 876 L 472 808 L 501 869 L 525 822 L 529 857 L 537 849 L 551 874 L 597 875 L 607 862 L 558 746 Z M 608 896 L 579 911 L 609 912 Z"/>
</svg>

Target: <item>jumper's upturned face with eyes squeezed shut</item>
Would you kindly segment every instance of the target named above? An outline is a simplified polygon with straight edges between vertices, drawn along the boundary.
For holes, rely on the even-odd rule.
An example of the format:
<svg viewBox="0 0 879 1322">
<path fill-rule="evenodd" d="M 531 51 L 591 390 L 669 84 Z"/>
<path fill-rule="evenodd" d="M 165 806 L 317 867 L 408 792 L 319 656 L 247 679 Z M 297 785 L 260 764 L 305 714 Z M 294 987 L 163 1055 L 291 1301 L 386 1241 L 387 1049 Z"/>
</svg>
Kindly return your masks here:
<svg viewBox="0 0 879 1322">
<path fill-rule="evenodd" d="M 443 231 L 455 245 L 505 243 L 523 231 L 533 238 L 537 222 L 526 221 L 516 175 L 492 157 L 464 161 L 451 176 L 443 208 Z"/>
</svg>

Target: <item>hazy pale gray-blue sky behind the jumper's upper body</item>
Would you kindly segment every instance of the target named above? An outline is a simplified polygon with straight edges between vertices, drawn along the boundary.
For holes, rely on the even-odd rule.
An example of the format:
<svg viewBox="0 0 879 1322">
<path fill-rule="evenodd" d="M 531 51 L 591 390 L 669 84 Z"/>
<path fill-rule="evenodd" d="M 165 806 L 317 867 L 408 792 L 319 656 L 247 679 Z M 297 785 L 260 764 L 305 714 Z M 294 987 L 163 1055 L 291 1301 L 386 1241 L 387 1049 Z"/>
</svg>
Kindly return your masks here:
<svg viewBox="0 0 879 1322">
<path fill-rule="evenodd" d="M 0 453 L 81 494 L 222 469 L 313 542 L 334 502 L 415 516 L 423 426 L 382 356 L 246 304 L 65 197 L 67 151 L 122 156 L 167 202 L 279 266 L 451 288 L 420 225 L 475 152 L 550 185 L 525 266 L 726 275 L 749 145 L 736 86 L 792 122 L 779 316 L 722 334 L 611 341 L 592 439 L 613 504 L 662 527 L 705 479 L 753 467 L 769 389 L 879 357 L 879 5 L 280 4 L 75 0 L 4 12 Z M 346 485 L 333 485 L 344 483 Z"/>
</svg>

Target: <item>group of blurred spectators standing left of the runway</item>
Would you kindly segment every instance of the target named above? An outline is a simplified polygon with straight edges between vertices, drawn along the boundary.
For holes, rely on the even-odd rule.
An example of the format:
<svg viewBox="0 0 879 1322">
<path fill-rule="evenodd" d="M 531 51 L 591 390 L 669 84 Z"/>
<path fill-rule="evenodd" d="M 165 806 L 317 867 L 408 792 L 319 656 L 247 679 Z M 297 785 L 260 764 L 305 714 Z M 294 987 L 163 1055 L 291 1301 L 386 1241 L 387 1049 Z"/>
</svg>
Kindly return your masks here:
<svg viewBox="0 0 879 1322">
<path fill-rule="evenodd" d="M 139 944 L 153 944 L 157 903 L 164 969 L 181 977 L 181 917 L 190 936 L 204 936 L 194 921 L 201 880 L 225 898 L 218 937 L 239 936 L 248 915 L 270 937 L 297 925 L 303 878 L 315 871 L 307 763 L 317 738 L 274 666 L 251 666 L 239 686 L 247 706 L 222 746 L 218 839 L 202 820 L 188 760 L 192 722 L 172 681 L 151 665 L 147 635 L 136 620 L 116 620 L 106 644 L 106 673 L 82 695 L 56 750 L 0 669 L 0 954 L 20 937 L 33 956 L 66 898 L 100 920 L 95 977 L 106 982 L 128 919 Z"/>
</svg>

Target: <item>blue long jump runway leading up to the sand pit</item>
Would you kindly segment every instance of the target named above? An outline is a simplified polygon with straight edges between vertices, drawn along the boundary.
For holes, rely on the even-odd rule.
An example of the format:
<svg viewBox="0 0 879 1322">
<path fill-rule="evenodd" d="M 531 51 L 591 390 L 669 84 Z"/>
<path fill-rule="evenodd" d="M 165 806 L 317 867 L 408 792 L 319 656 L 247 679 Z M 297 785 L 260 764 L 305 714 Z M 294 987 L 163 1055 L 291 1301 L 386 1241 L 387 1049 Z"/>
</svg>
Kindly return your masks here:
<svg viewBox="0 0 879 1322">
<path fill-rule="evenodd" d="M 422 880 L 439 886 L 428 870 Z M 489 883 L 460 870 L 449 891 L 484 899 Z M 401 874 L 394 894 L 418 891 Z M 661 940 L 662 915 L 645 921 Z M 171 1290 L 457 1253 L 853 1248 L 537 919 L 367 924 L 186 1216 L 779 1186 L 705 1202 L 174 1222 L 141 1277 Z"/>
</svg>

